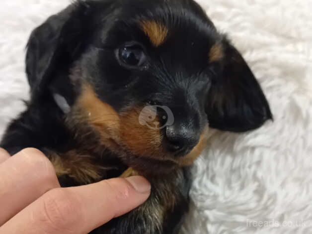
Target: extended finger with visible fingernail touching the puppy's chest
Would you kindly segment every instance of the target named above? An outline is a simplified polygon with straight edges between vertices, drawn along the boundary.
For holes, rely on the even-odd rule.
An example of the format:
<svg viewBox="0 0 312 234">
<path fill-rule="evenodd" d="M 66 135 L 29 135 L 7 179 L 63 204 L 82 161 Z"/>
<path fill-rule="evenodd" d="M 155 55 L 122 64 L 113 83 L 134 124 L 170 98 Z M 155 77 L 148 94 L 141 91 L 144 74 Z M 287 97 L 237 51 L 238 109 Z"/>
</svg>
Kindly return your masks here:
<svg viewBox="0 0 312 234">
<path fill-rule="evenodd" d="M 145 202 L 150 183 L 141 176 L 54 189 L 0 228 L 5 234 L 86 234 Z"/>
</svg>

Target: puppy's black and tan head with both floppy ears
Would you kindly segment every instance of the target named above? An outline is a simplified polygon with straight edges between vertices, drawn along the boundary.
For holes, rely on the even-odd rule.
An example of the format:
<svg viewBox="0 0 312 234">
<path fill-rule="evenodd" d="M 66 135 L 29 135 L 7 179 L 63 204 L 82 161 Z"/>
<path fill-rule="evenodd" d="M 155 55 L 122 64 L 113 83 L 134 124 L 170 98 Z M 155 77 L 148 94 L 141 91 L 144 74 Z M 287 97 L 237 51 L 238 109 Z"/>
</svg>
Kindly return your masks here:
<svg viewBox="0 0 312 234">
<path fill-rule="evenodd" d="M 138 170 L 191 163 L 208 126 L 241 132 L 272 117 L 242 56 L 192 0 L 78 1 L 33 31 L 26 65 L 34 102 L 52 98 Z"/>
</svg>

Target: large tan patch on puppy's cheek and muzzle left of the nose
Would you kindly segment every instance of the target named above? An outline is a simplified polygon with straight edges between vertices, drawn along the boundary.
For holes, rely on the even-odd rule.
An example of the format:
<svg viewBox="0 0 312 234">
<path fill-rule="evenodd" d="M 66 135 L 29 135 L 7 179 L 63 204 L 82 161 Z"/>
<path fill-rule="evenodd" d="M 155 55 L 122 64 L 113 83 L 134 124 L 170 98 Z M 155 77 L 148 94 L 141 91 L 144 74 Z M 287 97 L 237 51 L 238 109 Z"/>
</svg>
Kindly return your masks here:
<svg viewBox="0 0 312 234">
<path fill-rule="evenodd" d="M 93 88 L 86 84 L 83 85 L 76 109 L 75 118 L 81 118 L 81 124 L 85 124 L 86 120 L 86 123 L 94 127 L 100 134 L 102 143 L 111 150 L 118 152 L 122 145 L 137 155 L 162 155 L 159 130 L 139 122 L 143 108 L 118 114 L 110 105 L 99 100 Z"/>
</svg>

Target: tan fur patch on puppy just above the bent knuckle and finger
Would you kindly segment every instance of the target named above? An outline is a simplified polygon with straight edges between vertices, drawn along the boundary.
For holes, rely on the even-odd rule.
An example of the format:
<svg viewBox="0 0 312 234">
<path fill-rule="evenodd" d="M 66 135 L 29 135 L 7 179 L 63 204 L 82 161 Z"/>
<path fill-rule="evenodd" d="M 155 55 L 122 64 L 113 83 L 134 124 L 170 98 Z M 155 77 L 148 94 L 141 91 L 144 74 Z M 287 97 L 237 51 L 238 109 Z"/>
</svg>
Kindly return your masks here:
<svg viewBox="0 0 312 234">
<path fill-rule="evenodd" d="M 80 184 L 90 184 L 101 179 L 101 166 L 92 161 L 89 155 L 81 155 L 75 150 L 63 154 L 48 155 L 58 177 L 67 175 Z"/>
</svg>

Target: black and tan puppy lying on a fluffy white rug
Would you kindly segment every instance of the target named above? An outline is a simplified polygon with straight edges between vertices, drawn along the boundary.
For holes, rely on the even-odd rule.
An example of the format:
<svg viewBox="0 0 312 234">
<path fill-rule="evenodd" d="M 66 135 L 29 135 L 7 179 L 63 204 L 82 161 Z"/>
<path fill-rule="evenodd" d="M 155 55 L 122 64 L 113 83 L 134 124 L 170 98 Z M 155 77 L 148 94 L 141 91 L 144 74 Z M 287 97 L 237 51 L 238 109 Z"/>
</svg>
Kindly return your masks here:
<svg viewBox="0 0 312 234">
<path fill-rule="evenodd" d="M 32 32 L 26 66 L 28 109 L 1 147 L 42 150 L 62 186 L 152 182 L 144 205 L 94 234 L 177 233 L 208 127 L 242 132 L 272 117 L 242 56 L 193 0 L 77 1 Z"/>
</svg>

